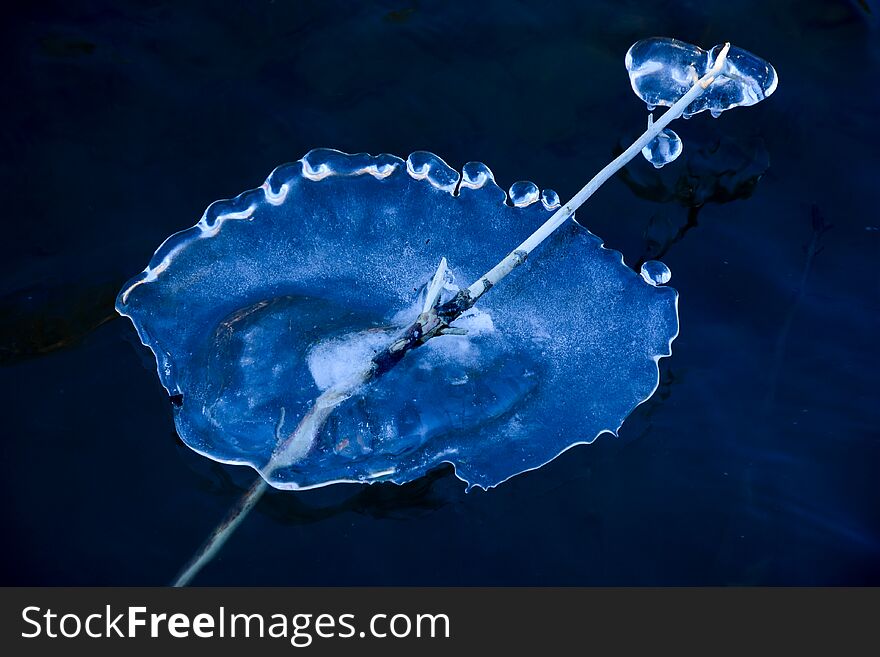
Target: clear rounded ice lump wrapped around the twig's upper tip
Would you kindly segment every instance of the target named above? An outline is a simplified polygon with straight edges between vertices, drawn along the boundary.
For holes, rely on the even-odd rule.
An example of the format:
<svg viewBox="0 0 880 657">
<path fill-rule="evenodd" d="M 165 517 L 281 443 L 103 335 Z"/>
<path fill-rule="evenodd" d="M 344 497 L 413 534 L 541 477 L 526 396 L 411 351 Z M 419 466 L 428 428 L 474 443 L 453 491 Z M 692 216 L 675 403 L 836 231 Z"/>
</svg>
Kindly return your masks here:
<svg viewBox="0 0 880 657">
<path fill-rule="evenodd" d="M 705 51 L 678 39 L 654 37 L 634 43 L 626 53 L 633 91 L 653 110 L 681 98 L 712 67 L 722 46 Z M 691 103 L 684 116 L 709 110 L 718 116 L 731 107 L 754 105 L 776 90 L 776 71 L 760 57 L 731 46 L 724 70 Z"/>
</svg>

